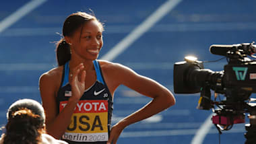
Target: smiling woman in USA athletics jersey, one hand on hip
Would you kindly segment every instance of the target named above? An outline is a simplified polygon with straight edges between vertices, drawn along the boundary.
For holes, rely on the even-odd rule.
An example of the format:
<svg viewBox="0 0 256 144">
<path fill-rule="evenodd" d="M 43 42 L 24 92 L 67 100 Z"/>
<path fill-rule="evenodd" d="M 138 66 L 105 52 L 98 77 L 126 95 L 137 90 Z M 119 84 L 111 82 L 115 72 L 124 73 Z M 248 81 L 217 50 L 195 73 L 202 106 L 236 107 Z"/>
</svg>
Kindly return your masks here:
<svg viewBox="0 0 256 144">
<path fill-rule="evenodd" d="M 59 67 L 40 77 L 46 130 L 68 143 L 117 143 L 129 124 L 149 118 L 175 104 L 160 83 L 109 61 L 97 60 L 103 46 L 102 24 L 88 13 L 69 15 L 57 44 Z M 153 100 L 115 124 L 111 131 L 113 97 L 125 85 Z"/>
</svg>

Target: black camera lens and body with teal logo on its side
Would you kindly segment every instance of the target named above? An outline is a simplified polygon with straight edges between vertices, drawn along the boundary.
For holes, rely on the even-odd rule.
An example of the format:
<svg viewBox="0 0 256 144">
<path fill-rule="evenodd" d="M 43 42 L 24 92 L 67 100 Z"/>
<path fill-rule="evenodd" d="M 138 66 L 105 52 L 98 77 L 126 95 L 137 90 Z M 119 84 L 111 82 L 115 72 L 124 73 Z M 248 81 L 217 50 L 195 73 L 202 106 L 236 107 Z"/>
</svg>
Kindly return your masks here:
<svg viewBox="0 0 256 144">
<path fill-rule="evenodd" d="M 237 63 L 224 66 L 224 71 L 203 69 L 201 61 L 182 61 L 174 64 L 174 93 L 195 94 L 205 83 L 220 94 L 225 89 L 242 89 L 256 93 L 256 63 Z"/>
</svg>

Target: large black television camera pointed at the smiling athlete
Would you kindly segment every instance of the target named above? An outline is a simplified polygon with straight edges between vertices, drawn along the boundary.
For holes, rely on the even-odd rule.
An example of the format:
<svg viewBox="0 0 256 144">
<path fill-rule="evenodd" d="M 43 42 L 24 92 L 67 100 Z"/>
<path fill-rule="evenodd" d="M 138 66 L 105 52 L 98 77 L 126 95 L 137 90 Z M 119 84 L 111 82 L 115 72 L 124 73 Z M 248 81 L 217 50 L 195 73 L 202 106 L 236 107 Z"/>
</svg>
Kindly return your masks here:
<svg viewBox="0 0 256 144">
<path fill-rule="evenodd" d="M 245 124 L 246 144 L 256 143 L 256 45 L 254 42 L 210 46 L 214 55 L 222 55 L 228 64 L 223 71 L 204 69 L 203 62 L 195 57 L 174 64 L 174 93 L 195 94 L 200 92 L 197 109 L 214 111 L 212 122 L 219 133 L 232 128 L 233 124 L 244 123 L 249 113 L 249 124 Z M 247 57 L 249 56 L 249 57 Z M 214 92 L 214 98 L 211 92 Z M 220 94 L 224 95 L 220 99 Z"/>
</svg>

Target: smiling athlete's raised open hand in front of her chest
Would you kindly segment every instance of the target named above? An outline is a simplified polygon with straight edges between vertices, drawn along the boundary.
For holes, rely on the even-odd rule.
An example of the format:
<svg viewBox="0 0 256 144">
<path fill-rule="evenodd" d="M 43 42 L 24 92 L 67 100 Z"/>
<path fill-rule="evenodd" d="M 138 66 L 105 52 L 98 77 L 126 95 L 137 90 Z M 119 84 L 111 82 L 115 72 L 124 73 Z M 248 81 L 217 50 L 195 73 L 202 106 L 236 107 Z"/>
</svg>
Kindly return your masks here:
<svg viewBox="0 0 256 144">
<path fill-rule="evenodd" d="M 84 94 L 85 79 L 86 71 L 84 70 L 84 64 L 80 63 L 70 73 L 70 85 L 72 91 L 71 98 L 73 98 L 74 100 L 79 100 Z"/>
</svg>

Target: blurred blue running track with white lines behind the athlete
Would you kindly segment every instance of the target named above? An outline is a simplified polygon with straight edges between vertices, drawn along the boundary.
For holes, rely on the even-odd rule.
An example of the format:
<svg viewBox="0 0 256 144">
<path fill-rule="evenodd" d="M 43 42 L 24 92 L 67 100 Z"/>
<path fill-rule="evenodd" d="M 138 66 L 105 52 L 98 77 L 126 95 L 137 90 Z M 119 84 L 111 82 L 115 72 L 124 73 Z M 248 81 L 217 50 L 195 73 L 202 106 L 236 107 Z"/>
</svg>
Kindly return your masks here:
<svg viewBox="0 0 256 144">
<path fill-rule="evenodd" d="M 2 1 L 0 5 L 0 124 L 15 100 L 40 102 L 38 78 L 57 65 L 55 44 L 65 17 L 94 12 L 104 22 L 100 59 L 121 63 L 173 92 L 173 64 L 186 55 L 200 61 L 220 59 L 211 44 L 255 40 L 256 1 Z M 59 34 L 58 34 L 59 33 Z M 127 42 L 127 43 L 125 43 Z M 127 45 L 125 45 L 127 44 Z M 121 48 L 117 55 L 107 55 Z M 112 52 L 112 51 L 111 51 Z M 221 71 L 225 60 L 205 68 Z M 211 111 L 197 110 L 199 94 L 175 94 L 177 104 L 123 131 L 118 143 L 218 143 Z M 150 101 L 127 87 L 115 93 L 113 124 Z M 221 143 L 244 143 L 244 124 L 235 124 Z"/>
</svg>

